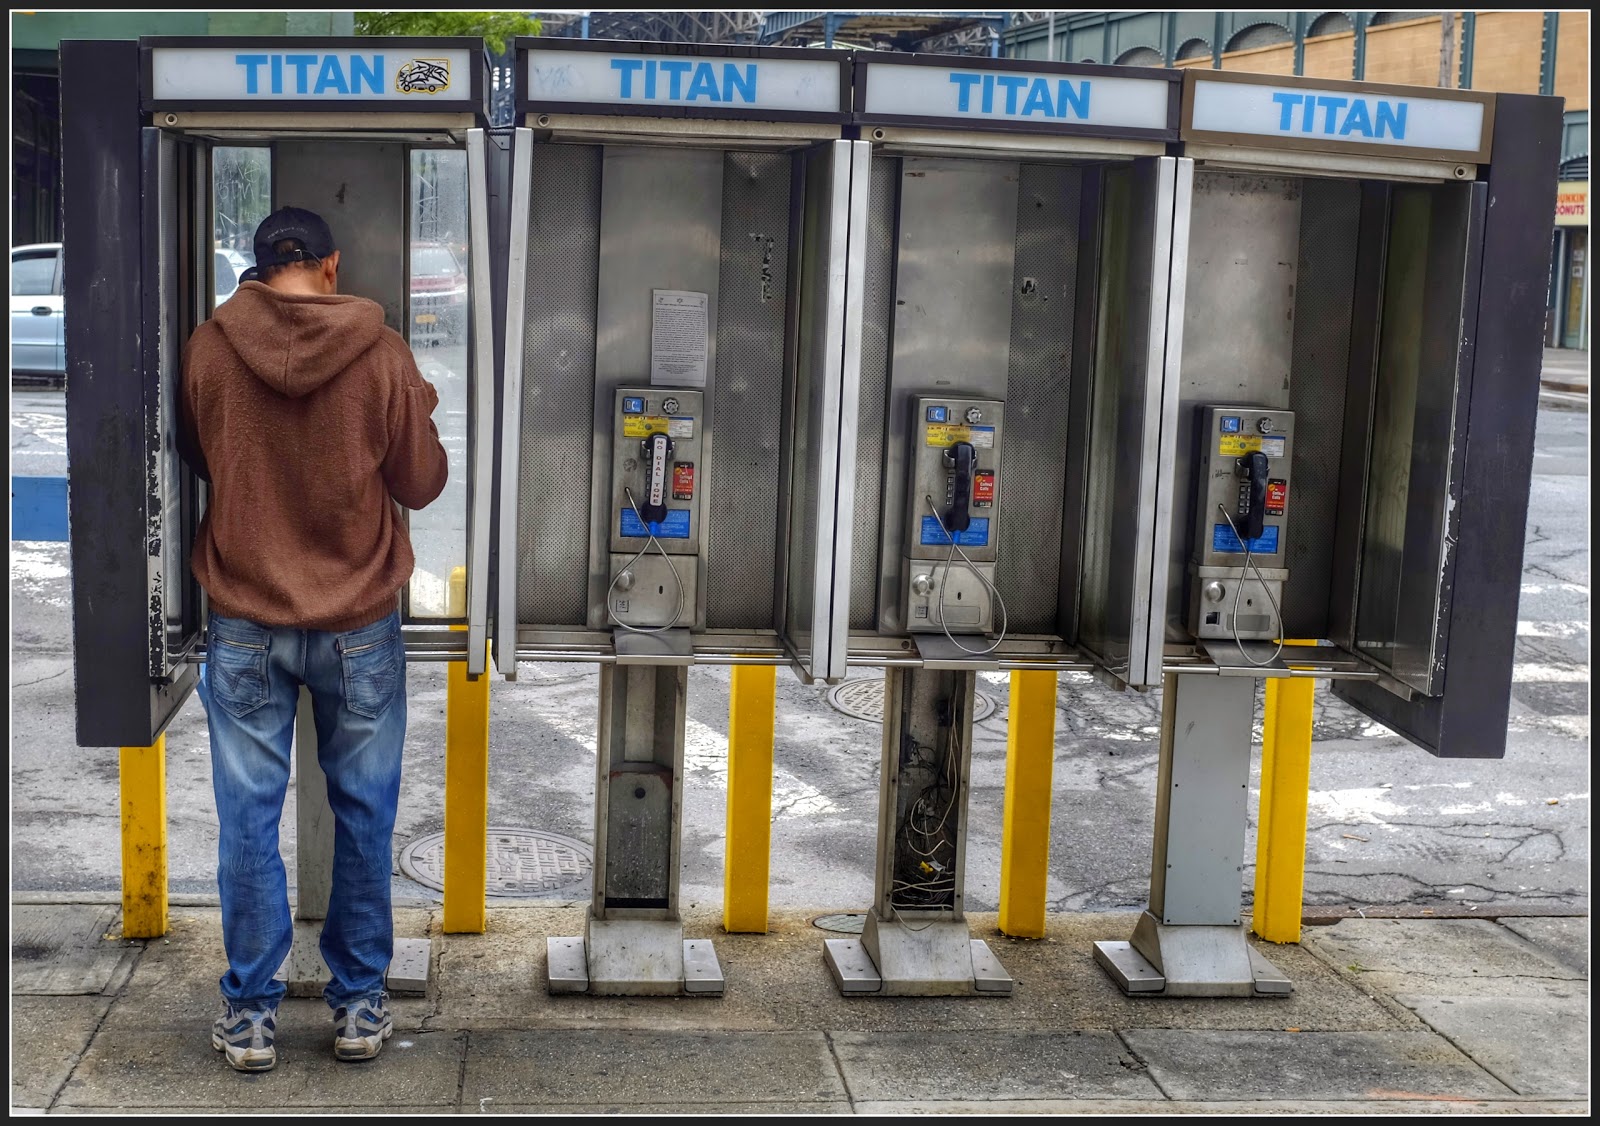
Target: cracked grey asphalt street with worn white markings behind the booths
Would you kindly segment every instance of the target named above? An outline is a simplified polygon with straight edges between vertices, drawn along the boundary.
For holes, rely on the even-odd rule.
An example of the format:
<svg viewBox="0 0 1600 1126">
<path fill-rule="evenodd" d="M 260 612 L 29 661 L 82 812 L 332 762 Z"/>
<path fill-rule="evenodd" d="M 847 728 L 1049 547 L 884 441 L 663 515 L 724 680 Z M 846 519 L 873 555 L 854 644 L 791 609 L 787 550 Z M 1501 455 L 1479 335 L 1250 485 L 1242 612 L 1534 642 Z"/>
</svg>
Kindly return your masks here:
<svg viewBox="0 0 1600 1126">
<path fill-rule="evenodd" d="M 13 473 L 66 472 L 59 392 L 13 392 Z M 1341 912 L 1587 912 L 1589 908 L 1589 414 L 1542 408 L 1520 603 L 1509 749 L 1442 761 L 1318 689 L 1306 904 Z M 419 552 L 421 555 L 421 552 Z M 118 888 L 115 749 L 74 744 L 70 558 L 66 544 L 11 544 L 11 886 Z M 861 673 L 870 675 L 870 673 Z M 490 824 L 592 840 L 595 667 L 523 665 L 491 688 Z M 683 902 L 722 902 L 730 670 L 690 675 Z M 395 854 L 443 827 L 445 669 L 413 664 Z M 978 725 L 966 904 L 994 910 L 1000 880 L 1006 680 Z M 1258 739 L 1259 739 L 1258 691 Z M 1064 675 L 1058 701 L 1054 910 L 1144 905 L 1158 693 L 1114 693 Z M 170 880 L 214 896 L 216 814 L 205 717 L 190 699 L 168 731 Z M 1259 747 L 1253 785 L 1259 784 Z M 1254 872 L 1254 793 L 1245 902 Z M 778 678 L 771 902 L 862 908 L 877 840 L 878 725 L 837 712 L 824 686 Z M 283 849 L 293 878 L 293 795 Z M 438 894 L 406 878 L 418 902 Z M 491 904 L 494 900 L 491 899 Z"/>
</svg>

